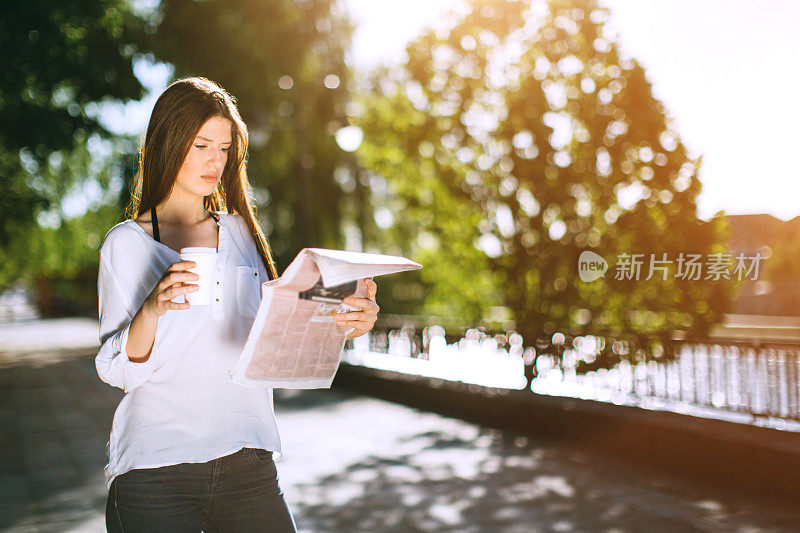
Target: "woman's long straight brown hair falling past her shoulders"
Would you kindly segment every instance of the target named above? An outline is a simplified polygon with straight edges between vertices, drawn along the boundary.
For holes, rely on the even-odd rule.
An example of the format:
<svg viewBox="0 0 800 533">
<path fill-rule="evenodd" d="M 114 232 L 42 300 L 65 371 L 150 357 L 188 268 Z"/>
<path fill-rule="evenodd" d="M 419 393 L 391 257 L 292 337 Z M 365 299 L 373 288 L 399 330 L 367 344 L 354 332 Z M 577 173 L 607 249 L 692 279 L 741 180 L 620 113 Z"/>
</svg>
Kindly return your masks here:
<svg viewBox="0 0 800 533">
<path fill-rule="evenodd" d="M 180 79 L 158 97 L 139 146 L 139 168 L 126 218 L 136 218 L 169 197 L 192 141 L 212 117 L 230 120 L 232 142 L 222 177 L 214 192 L 203 199 L 203 205 L 244 218 L 258 255 L 270 278 L 275 279 L 278 272 L 272 250 L 256 221 L 255 199 L 247 179 L 247 126 L 236 108 L 236 99 L 206 78 Z"/>
</svg>

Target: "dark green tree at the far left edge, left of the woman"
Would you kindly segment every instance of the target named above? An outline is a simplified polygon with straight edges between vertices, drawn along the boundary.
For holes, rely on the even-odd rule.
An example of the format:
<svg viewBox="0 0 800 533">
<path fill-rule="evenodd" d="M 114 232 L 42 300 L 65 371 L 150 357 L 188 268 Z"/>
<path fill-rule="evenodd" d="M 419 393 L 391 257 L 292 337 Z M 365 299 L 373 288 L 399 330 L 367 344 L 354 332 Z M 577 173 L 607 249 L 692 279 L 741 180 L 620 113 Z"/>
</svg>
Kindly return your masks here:
<svg viewBox="0 0 800 533">
<path fill-rule="evenodd" d="M 99 242 L 69 235 L 96 221 L 73 214 L 62 224 L 70 218 L 62 201 L 111 179 L 92 153 L 114 138 L 98 121 L 99 103 L 141 98 L 131 61 L 141 30 L 123 0 L 0 8 L 0 290 L 20 280 L 66 286 L 79 271 L 91 277 Z"/>
</svg>

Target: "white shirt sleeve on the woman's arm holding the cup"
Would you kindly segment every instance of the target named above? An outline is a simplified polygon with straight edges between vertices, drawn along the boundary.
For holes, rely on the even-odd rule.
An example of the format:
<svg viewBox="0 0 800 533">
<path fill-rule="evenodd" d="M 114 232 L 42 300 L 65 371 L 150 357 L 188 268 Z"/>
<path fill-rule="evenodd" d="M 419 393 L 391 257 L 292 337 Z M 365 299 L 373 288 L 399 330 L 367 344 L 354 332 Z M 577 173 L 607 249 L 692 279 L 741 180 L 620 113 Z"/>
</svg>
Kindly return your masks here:
<svg viewBox="0 0 800 533">
<path fill-rule="evenodd" d="M 98 311 L 100 317 L 100 351 L 95 357 L 95 367 L 100 379 L 113 387 L 130 392 L 153 374 L 158 350 L 154 345 L 150 358 L 143 363 L 128 359 L 126 346 L 128 332 L 133 316 L 138 309 L 132 309 L 131 296 L 126 294 L 112 268 L 113 247 L 100 251 L 100 265 L 97 275 Z M 109 257 L 111 256 L 111 257 Z"/>
</svg>

